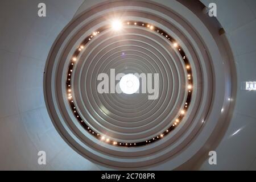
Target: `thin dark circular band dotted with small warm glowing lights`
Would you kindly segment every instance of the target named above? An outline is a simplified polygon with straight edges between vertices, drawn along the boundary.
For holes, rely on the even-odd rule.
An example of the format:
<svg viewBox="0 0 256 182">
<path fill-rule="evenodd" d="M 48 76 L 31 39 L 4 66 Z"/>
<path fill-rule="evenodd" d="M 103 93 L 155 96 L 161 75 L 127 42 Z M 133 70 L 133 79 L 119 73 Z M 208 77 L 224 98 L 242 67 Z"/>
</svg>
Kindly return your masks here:
<svg viewBox="0 0 256 182">
<path fill-rule="evenodd" d="M 171 43 L 171 47 L 174 48 L 174 49 L 177 49 L 177 51 L 179 52 L 181 58 L 183 59 L 185 69 L 187 70 L 187 83 L 188 83 L 188 85 L 187 85 L 187 98 L 185 100 L 185 104 L 183 106 L 183 109 L 180 110 L 180 112 L 179 112 L 178 117 L 175 118 L 174 121 L 172 121 L 170 123 L 170 127 L 168 127 L 167 130 L 163 131 L 159 135 L 155 136 L 154 138 L 150 138 L 148 140 L 144 140 L 144 141 L 136 142 L 136 143 L 116 141 L 116 140 L 111 139 L 107 135 L 102 135 L 102 134 L 99 134 L 96 131 L 94 131 L 80 117 L 80 114 L 76 110 L 76 105 L 75 105 L 75 103 L 73 101 L 73 97 L 72 97 L 72 82 L 71 82 L 72 71 L 73 71 L 73 68 L 76 64 L 77 57 L 80 55 L 82 49 L 84 49 L 86 47 L 86 44 L 88 44 L 88 42 L 93 40 L 93 38 L 96 37 L 98 34 L 100 34 L 102 31 L 108 30 L 109 28 L 113 28 L 115 31 L 118 31 L 122 28 L 122 26 L 139 26 L 139 27 L 148 28 L 149 30 L 156 32 L 160 36 L 163 36 L 163 38 L 169 40 L 170 43 Z M 101 140 L 102 142 L 111 144 L 113 146 L 138 147 L 138 146 L 145 146 L 147 144 L 151 144 L 151 143 L 154 143 L 154 142 L 162 139 L 163 137 L 165 137 L 168 133 L 170 133 L 172 130 L 174 130 L 179 125 L 179 123 L 184 118 L 185 113 L 188 110 L 189 104 L 191 102 L 192 89 L 193 89 L 193 77 L 192 77 L 191 65 L 189 64 L 189 61 L 187 59 L 187 56 L 185 55 L 185 52 L 180 47 L 180 45 L 176 42 L 176 40 L 174 38 L 172 38 L 172 36 L 168 35 L 167 32 L 165 32 L 162 29 L 160 29 L 158 27 L 155 27 L 155 26 L 153 26 L 152 24 L 149 24 L 149 23 L 135 22 L 135 21 L 126 21 L 125 23 L 123 23 L 123 22 L 120 22 L 118 20 L 115 20 L 112 23 L 112 26 L 104 26 L 104 27 L 98 28 L 98 30 L 93 32 L 91 35 L 87 36 L 82 41 L 80 46 L 76 49 L 76 51 L 73 53 L 73 56 L 70 60 L 70 64 L 69 64 L 69 67 L 68 67 L 66 88 L 67 88 L 68 102 L 69 102 L 69 105 L 71 106 L 72 112 L 75 115 L 77 121 L 81 124 L 82 127 L 84 127 L 84 129 L 86 131 L 88 131 L 89 134 L 93 135 L 93 137 L 97 138 L 98 140 Z"/>
</svg>

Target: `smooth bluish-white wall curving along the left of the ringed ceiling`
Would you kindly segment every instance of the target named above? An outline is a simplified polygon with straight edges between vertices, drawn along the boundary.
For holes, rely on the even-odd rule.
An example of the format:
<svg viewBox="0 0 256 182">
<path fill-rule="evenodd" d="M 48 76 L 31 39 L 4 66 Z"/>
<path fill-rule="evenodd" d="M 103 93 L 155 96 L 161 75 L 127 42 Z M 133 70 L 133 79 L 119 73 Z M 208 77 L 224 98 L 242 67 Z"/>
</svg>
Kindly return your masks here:
<svg viewBox="0 0 256 182">
<path fill-rule="evenodd" d="M 46 3 L 47 18 L 38 17 L 39 2 Z M 82 2 L 1 1 L 0 169 L 98 169 L 57 133 L 43 95 L 49 49 Z M 40 150 L 46 165 L 38 165 Z"/>
</svg>

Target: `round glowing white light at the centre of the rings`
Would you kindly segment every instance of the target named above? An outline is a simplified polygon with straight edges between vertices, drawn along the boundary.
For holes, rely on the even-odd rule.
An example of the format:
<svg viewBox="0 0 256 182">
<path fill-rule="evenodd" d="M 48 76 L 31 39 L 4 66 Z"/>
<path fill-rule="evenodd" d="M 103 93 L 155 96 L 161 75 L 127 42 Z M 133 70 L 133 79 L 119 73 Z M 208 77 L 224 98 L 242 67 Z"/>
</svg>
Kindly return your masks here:
<svg viewBox="0 0 256 182">
<path fill-rule="evenodd" d="M 119 86 L 123 93 L 133 94 L 139 89 L 139 79 L 133 74 L 127 74 L 121 78 Z"/>
</svg>

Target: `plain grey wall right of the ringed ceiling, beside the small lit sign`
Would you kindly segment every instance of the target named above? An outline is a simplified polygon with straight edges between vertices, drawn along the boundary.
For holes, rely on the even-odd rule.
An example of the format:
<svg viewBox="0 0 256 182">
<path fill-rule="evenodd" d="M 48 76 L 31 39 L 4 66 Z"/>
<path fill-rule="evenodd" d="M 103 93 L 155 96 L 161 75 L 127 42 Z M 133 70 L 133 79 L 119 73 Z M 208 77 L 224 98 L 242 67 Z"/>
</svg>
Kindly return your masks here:
<svg viewBox="0 0 256 182">
<path fill-rule="evenodd" d="M 241 90 L 241 81 L 256 80 L 256 1 L 201 0 L 217 5 L 217 19 L 226 31 L 237 68 L 237 98 L 233 117 L 217 152 L 217 165 L 205 160 L 203 170 L 256 170 L 256 92 Z"/>
</svg>

